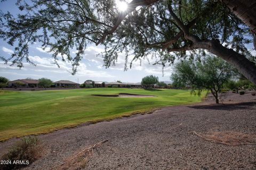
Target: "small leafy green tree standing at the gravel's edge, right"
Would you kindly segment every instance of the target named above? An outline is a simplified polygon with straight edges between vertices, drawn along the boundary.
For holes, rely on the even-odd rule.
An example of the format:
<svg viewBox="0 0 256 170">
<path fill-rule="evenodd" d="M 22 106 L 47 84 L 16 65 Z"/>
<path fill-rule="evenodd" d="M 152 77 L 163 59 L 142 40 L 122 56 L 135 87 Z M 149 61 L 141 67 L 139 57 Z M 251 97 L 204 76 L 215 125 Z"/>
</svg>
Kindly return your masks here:
<svg viewBox="0 0 256 170">
<path fill-rule="evenodd" d="M 231 66 L 221 58 L 209 56 L 202 62 L 185 60 L 174 67 L 174 74 L 171 79 L 175 79 L 180 84 L 186 84 L 193 90 L 210 90 L 218 104 L 218 93 L 233 75 Z"/>
</svg>

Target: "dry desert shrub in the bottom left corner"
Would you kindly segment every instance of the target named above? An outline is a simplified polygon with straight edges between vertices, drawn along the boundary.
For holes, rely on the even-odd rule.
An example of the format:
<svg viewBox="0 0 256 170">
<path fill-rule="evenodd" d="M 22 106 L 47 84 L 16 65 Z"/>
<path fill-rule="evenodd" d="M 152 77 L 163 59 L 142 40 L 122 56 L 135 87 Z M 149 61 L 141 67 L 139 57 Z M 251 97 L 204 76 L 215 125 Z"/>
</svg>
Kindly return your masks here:
<svg viewBox="0 0 256 170">
<path fill-rule="evenodd" d="M 3 155 L 1 158 L 1 160 L 10 160 L 11 164 L 2 165 L 0 169 L 18 169 L 25 167 L 38 159 L 42 152 L 42 143 L 37 137 L 29 136 L 21 138 L 21 140 L 14 143 L 7 154 Z M 13 162 L 17 160 L 22 161 L 22 164 L 13 164 Z"/>
</svg>

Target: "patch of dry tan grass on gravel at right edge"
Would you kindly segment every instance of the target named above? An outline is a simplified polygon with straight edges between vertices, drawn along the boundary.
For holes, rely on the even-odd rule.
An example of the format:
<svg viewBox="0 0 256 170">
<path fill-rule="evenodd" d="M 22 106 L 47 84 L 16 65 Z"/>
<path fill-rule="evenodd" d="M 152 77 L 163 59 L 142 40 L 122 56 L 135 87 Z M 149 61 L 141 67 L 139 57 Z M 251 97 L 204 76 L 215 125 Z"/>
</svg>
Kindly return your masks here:
<svg viewBox="0 0 256 170">
<path fill-rule="evenodd" d="M 256 145 L 255 134 L 245 134 L 234 131 L 208 132 L 206 134 L 198 134 L 196 132 L 194 133 L 207 141 L 213 141 L 224 145 Z"/>
</svg>

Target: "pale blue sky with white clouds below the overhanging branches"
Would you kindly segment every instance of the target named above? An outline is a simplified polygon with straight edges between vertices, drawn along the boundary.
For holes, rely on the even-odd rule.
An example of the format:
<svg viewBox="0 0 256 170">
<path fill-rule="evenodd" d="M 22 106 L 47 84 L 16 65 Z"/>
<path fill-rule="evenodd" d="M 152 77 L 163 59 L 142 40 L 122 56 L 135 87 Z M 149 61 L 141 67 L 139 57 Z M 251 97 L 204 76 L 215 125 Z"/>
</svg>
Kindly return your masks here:
<svg viewBox="0 0 256 170">
<path fill-rule="evenodd" d="M 15 1 L 8 0 L 1 3 L 0 9 L 3 12 L 10 11 L 12 14 L 18 12 L 14 5 Z M 0 39 L 0 56 L 9 57 L 13 52 L 14 47 L 5 43 Z M 51 54 L 47 53 L 47 49 L 43 50 L 39 44 L 30 46 L 29 55 L 30 60 L 33 61 L 36 66 L 25 63 L 22 69 L 16 66 L 9 66 L 0 61 L 0 76 L 6 77 L 9 80 L 25 79 L 27 77 L 39 79 L 49 78 L 53 81 L 58 80 L 70 80 L 79 83 L 84 82 L 87 79 L 94 81 L 117 81 L 122 82 L 140 82 L 146 75 L 154 74 L 159 77 L 161 81 L 170 81 L 170 75 L 172 68 L 165 67 L 164 76 L 162 74 L 161 65 L 152 65 L 153 61 L 148 63 L 147 60 L 135 62 L 132 65 L 132 69 L 124 71 L 124 56 L 119 56 L 116 66 L 111 66 L 106 69 L 102 67 L 103 60 L 97 54 L 102 52 L 102 46 L 89 46 L 86 48 L 86 53 L 83 57 L 81 64 L 78 67 L 76 75 L 71 75 L 71 64 L 68 62 L 59 62 L 60 68 L 57 65 L 52 64 L 53 60 Z M 73 54 L 75 51 L 73 51 Z M 132 57 L 132 56 L 131 56 Z M 131 58 L 130 57 L 130 58 Z"/>
</svg>

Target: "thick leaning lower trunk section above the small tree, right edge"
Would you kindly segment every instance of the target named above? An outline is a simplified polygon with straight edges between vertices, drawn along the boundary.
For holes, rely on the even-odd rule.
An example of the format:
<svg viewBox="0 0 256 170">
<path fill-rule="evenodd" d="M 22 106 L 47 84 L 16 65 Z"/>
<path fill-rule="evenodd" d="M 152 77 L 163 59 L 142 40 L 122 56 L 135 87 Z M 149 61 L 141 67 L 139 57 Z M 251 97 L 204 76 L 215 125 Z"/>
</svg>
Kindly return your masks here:
<svg viewBox="0 0 256 170">
<path fill-rule="evenodd" d="M 233 65 L 241 74 L 256 85 L 256 65 L 244 55 L 235 52 L 233 49 L 222 46 L 218 41 L 201 41 L 198 48 L 209 50 L 212 54 L 221 57 Z"/>
</svg>

